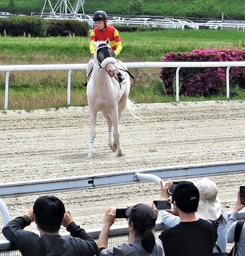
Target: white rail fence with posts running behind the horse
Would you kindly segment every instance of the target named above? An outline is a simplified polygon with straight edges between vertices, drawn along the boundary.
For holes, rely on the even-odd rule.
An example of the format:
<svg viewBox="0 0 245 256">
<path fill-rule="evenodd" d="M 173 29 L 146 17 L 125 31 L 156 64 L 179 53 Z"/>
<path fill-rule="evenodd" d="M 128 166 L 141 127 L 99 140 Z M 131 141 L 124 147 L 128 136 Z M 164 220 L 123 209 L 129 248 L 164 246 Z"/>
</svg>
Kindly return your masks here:
<svg viewBox="0 0 245 256">
<path fill-rule="evenodd" d="M 231 67 L 245 67 L 245 61 L 213 61 L 213 62 L 134 62 L 125 63 L 127 68 L 162 68 L 176 67 L 176 102 L 179 102 L 179 71 L 180 68 L 227 67 L 226 69 L 226 97 L 230 97 L 229 71 Z M 68 70 L 67 104 L 71 105 L 71 76 L 72 70 L 85 70 L 87 64 L 41 64 L 41 65 L 0 65 L 0 72 L 5 76 L 4 110 L 8 110 L 9 75 L 12 71 L 43 71 Z"/>
</svg>

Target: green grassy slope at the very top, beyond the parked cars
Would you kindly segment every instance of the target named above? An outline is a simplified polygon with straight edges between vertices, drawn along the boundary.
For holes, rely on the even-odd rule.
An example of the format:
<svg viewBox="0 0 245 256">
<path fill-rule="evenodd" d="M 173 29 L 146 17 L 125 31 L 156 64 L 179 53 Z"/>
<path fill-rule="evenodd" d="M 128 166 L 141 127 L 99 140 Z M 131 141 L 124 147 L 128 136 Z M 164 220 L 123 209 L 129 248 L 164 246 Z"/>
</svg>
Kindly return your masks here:
<svg viewBox="0 0 245 256">
<path fill-rule="evenodd" d="M 14 0 L 14 6 L 9 6 L 9 0 L 1 0 L 0 11 L 40 12 L 44 0 Z M 58 0 L 51 0 L 53 6 Z M 71 0 L 73 4 L 75 0 Z M 126 15 L 132 14 L 128 9 L 129 0 L 93 0 L 85 1 L 84 9 L 86 14 L 93 14 L 98 9 L 103 9 L 108 14 Z M 174 17 L 204 17 L 221 18 L 221 13 L 229 15 L 233 19 L 245 19 L 243 0 L 150 0 L 144 1 L 142 11 L 138 14 L 164 15 Z"/>
</svg>

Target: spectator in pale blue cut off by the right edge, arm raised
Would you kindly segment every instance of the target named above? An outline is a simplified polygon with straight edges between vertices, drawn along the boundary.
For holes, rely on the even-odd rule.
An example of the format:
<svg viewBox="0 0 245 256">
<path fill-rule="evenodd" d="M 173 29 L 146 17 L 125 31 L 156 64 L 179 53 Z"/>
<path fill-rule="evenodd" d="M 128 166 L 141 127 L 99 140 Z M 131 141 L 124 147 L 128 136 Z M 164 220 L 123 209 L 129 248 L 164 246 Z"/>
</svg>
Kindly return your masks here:
<svg viewBox="0 0 245 256">
<path fill-rule="evenodd" d="M 245 202 L 244 202 L 245 204 Z M 227 232 L 227 242 L 234 242 L 234 233 L 237 224 L 238 212 L 243 209 L 245 205 L 240 202 L 239 192 L 237 193 L 237 201 L 235 202 L 233 212 L 228 220 L 228 232 Z M 237 242 L 236 256 L 243 256 L 245 251 L 245 224 L 241 228 L 241 234 L 239 242 Z"/>
</svg>

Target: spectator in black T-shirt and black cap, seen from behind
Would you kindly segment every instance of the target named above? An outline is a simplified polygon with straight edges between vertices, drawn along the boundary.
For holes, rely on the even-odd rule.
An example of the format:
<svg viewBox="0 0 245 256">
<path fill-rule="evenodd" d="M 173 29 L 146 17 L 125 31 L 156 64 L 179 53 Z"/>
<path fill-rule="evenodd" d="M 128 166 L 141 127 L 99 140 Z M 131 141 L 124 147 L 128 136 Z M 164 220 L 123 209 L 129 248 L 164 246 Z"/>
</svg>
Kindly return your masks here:
<svg viewBox="0 0 245 256">
<path fill-rule="evenodd" d="M 199 190 L 182 181 L 173 191 L 172 203 L 180 223 L 159 236 L 166 256 L 210 256 L 215 244 L 212 225 L 196 216 Z"/>
</svg>

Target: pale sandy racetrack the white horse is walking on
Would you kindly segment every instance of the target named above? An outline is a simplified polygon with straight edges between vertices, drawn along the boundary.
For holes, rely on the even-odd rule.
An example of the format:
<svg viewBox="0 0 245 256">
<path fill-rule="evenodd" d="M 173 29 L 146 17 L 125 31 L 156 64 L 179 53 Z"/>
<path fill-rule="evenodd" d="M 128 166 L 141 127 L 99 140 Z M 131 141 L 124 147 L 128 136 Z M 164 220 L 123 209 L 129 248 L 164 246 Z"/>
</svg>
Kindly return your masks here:
<svg viewBox="0 0 245 256">
<path fill-rule="evenodd" d="M 245 159 L 245 101 L 136 104 L 140 122 L 125 111 L 120 136 L 125 157 L 107 146 L 106 122 L 98 116 L 93 159 L 87 159 L 87 107 L 0 113 L 1 182 L 46 179 L 159 166 Z M 224 209 L 231 210 L 245 175 L 212 176 Z M 101 227 L 108 206 L 150 203 L 153 183 L 56 193 L 84 228 Z M 4 198 L 11 218 L 25 214 L 36 195 Z M 118 221 L 122 223 L 122 221 Z"/>
</svg>

